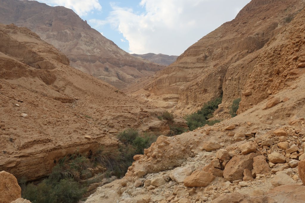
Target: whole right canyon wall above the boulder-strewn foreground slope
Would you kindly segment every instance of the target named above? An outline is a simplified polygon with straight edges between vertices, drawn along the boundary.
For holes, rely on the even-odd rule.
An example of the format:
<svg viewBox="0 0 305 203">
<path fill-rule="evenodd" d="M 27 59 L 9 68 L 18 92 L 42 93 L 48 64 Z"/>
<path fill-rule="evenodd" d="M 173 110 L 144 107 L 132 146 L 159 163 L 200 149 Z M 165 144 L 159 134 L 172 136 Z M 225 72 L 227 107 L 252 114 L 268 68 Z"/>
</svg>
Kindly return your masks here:
<svg viewBox="0 0 305 203">
<path fill-rule="evenodd" d="M 268 89 L 274 94 L 297 77 L 296 73 L 283 75 L 283 69 L 296 68 L 296 63 L 303 60 L 298 54 L 302 49 L 297 47 L 303 46 L 303 40 L 293 45 L 291 42 L 295 35 L 300 39 L 303 36 L 301 29 L 296 29 L 304 20 L 297 15 L 303 8 L 304 1 L 300 0 L 253 0 L 234 20 L 200 39 L 156 75 L 139 79 L 126 92 L 181 115 L 198 110 L 222 94 L 221 107 L 226 113 L 232 101 L 241 97 L 240 110 L 244 111 L 266 99 Z M 285 51 L 274 49 L 279 43 Z"/>
</svg>

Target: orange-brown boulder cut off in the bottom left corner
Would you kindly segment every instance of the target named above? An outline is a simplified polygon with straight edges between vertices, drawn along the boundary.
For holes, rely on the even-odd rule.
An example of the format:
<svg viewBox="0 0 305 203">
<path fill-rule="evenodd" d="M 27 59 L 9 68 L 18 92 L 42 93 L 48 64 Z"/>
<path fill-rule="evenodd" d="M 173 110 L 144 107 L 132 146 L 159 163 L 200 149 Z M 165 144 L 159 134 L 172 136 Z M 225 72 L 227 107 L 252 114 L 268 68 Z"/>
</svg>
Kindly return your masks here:
<svg viewBox="0 0 305 203">
<path fill-rule="evenodd" d="M 0 191 L 1 203 L 10 203 L 21 198 L 21 188 L 18 185 L 17 179 L 5 171 L 0 172 Z"/>
</svg>

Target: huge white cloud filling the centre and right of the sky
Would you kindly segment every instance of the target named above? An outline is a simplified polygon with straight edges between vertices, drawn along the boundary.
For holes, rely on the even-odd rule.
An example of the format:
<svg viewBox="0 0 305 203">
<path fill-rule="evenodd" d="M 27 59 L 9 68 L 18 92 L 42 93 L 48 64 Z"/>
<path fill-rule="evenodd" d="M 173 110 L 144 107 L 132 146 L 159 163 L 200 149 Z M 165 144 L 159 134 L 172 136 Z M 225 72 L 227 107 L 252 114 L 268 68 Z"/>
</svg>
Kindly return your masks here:
<svg viewBox="0 0 305 203">
<path fill-rule="evenodd" d="M 234 19 L 236 8 L 250 0 L 142 0 L 145 12 L 112 4 L 113 11 L 96 26 L 110 23 L 129 41 L 131 53 L 180 55 L 201 37 L 225 21 Z M 95 21 L 95 22 L 94 22 Z"/>
</svg>

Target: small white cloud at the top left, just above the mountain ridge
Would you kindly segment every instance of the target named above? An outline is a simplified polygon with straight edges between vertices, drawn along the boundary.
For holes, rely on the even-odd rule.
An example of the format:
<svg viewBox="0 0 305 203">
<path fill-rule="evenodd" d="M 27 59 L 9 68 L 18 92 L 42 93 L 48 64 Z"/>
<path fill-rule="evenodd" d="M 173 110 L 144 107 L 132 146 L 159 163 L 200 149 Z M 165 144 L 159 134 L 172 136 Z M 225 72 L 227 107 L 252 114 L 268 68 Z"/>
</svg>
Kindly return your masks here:
<svg viewBox="0 0 305 203">
<path fill-rule="evenodd" d="M 93 10 L 102 10 L 98 0 L 39 0 L 52 6 L 64 6 L 74 10 L 79 16 L 85 16 Z"/>
</svg>

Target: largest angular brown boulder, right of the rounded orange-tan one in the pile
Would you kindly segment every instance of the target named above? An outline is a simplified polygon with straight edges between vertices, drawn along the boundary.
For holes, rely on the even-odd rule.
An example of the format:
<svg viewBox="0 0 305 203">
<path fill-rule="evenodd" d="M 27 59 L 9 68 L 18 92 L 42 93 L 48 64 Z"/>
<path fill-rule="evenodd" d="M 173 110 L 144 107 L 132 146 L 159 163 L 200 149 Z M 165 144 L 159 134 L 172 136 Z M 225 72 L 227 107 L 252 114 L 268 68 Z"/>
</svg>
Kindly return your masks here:
<svg viewBox="0 0 305 203">
<path fill-rule="evenodd" d="M 227 181 L 242 180 L 245 169 L 253 169 L 253 157 L 255 153 L 248 155 L 236 155 L 227 163 L 224 168 L 224 178 Z"/>
</svg>

